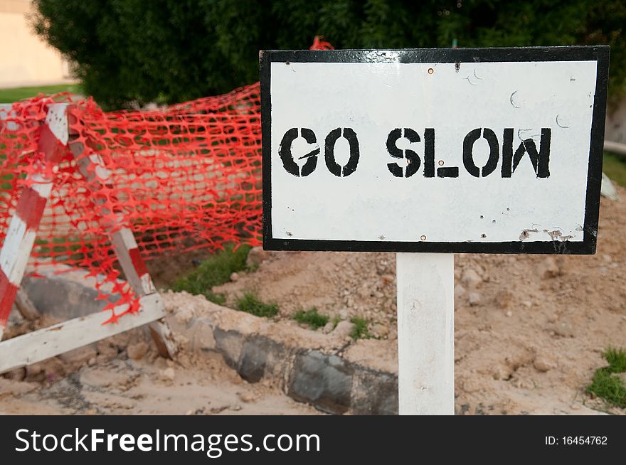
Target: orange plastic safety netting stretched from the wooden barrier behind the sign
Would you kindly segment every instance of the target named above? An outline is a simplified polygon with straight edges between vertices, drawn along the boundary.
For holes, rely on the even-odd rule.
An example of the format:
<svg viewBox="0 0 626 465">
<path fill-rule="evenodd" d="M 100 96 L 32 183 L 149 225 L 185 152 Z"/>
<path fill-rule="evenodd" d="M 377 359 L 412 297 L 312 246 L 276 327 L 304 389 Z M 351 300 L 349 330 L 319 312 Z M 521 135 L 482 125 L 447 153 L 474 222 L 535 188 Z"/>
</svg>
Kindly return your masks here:
<svg viewBox="0 0 626 465">
<path fill-rule="evenodd" d="M 260 244 L 259 85 L 152 111 L 102 112 L 91 99 L 70 102 L 70 144 L 46 163 L 38 128 L 48 107 L 69 96 L 14 104 L 0 129 L 0 243 L 24 186 L 53 179 L 31 265 L 69 264 L 97 277 L 111 321 L 138 309 L 108 235 L 129 227 L 144 259 L 227 243 Z M 78 145 L 77 145 L 78 143 Z M 71 147 L 81 150 L 75 156 Z M 87 181 L 78 166 L 94 161 Z M 56 167 L 54 166 L 56 165 Z M 110 299 L 111 294 L 116 296 Z M 115 306 L 129 308 L 115 314 Z"/>
</svg>

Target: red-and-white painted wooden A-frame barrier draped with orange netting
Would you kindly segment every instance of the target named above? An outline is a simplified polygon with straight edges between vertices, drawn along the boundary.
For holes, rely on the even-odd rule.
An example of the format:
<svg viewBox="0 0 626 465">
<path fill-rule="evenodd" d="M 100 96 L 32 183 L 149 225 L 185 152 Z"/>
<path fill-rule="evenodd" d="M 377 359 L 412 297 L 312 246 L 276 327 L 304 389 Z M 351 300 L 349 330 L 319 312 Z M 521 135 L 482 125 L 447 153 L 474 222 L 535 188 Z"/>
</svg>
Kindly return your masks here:
<svg viewBox="0 0 626 465">
<path fill-rule="evenodd" d="M 6 119 L 10 112 L 10 106 L 0 105 L 0 119 Z M 11 127 L 8 129 L 10 130 Z M 63 146 L 69 144 L 73 154 L 77 157 L 81 154 L 82 144 L 73 143 L 71 140 L 68 104 L 50 105 L 41 130 L 39 144 L 48 161 L 58 162 L 63 154 L 60 144 Z M 91 171 L 106 171 L 100 157 L 96 155 L 93 158 L 79 160 L 80 171 L 84 176 L 92 176 Z M 36 183 L 25 190 L 34 191 L 38 197 L 44 199 L 36 209 L 31 208 L 33 196 L 24 196 L 24 192 L 22 193 L 23 198 L 18 202 L 7 236 L 0 246 L 0 340 L 14 301 L 17 300 L 17 306 L 27 318 L 37 316 L 36 309 L 32 304 L 28 304 L 26 296 L 20 294 L 19 286 L 32 251 L 45 201 L 50 196 L 52 186 L 53 181 L 42 180 L 41 183 Z M 110 238 L 117 257 L 124 269 L 124 274 L 129 279 L 129 284 L 139 296 L 139 314 L 124 316 L 115 324 L 105 324 L 105 321 L 110 318 L 110 312 L 102 311 L 2 341 L 0 342 L 0 373 L 58 356 L 60 353 L 100 341 L 102 338 L 115 336 L 115 334 L 144 324 L 150 325 L 161 355 L 169 357 L 176 355 L 176 341 L 164 320 L 165 310 L 161 297 L 145 268 L 132 230 L 129 228 L 115 230 L 115 225 L 111 227 L 115 231 L 111 232 Z M 115 312 L 119 314 L 127 307 L 128 304 L 117 306 Z"/>
</svg>

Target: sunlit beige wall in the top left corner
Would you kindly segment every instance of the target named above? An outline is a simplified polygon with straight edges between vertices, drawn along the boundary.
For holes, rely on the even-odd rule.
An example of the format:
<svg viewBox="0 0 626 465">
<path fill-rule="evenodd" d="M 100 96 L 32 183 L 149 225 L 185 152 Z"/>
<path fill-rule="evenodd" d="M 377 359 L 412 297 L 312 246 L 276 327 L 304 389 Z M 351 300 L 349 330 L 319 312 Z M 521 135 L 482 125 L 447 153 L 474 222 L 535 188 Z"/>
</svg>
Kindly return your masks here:
<svg viewBox="0 0 626 465">
<path fill-rule="evenodd" d="M 0 87 L 66 82 L 68 65 L 27 21 L 30 0 L 0 0 Z"/>
</svg>

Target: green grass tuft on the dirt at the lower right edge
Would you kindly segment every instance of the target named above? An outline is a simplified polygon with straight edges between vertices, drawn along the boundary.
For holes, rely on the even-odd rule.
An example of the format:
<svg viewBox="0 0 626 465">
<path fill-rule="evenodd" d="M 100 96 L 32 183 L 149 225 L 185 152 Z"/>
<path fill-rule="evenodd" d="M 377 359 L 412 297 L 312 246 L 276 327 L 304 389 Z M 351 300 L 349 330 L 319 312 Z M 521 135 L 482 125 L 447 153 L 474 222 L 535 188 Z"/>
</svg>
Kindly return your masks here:
<svg viewBox="0 0 626 465">
<path fill-rule="evenodd" d="M 609 365 L 595 370 L 587 392 L 605 400 L 609 404 L 626 408 L 626 386 L 618 373 L 626 373 L 626 350 L 608 348 L 603 357 Z"/>
</svg>

